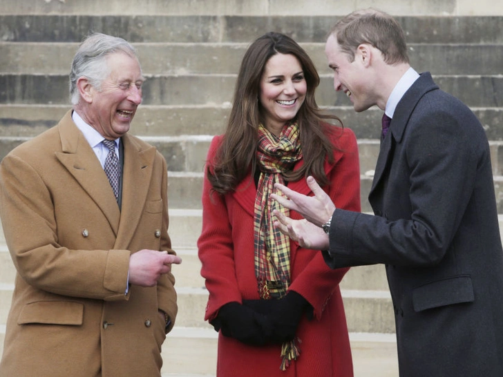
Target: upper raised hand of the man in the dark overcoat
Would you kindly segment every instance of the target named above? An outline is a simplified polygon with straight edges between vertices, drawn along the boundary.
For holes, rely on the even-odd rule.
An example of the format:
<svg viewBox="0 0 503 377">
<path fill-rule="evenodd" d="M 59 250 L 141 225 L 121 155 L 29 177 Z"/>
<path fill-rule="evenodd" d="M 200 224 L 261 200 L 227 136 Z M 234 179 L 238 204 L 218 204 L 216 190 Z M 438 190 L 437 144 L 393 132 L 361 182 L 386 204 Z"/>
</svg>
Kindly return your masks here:
<svg viewBox="0 0 503 377">
<path fill-rule="evenodd" d="M 288 189 L 287 186 L 283 184 L 276 183 L 274 187 L 281 191 L 286 197 L 278 194 L 271 194 L 269 197 L 276 200 L 287 209 L 292 209 L 300 213 L 307 221 L 317 226 L 322 226 L 332 218 L 335 205 L 330 199 L 330 196 L 321 189 L 313 177 L 307 177 L 307 186 L 309 186 L 314 193 L 314 196 L 297 193 L 296 191 Z"/>
</svg>

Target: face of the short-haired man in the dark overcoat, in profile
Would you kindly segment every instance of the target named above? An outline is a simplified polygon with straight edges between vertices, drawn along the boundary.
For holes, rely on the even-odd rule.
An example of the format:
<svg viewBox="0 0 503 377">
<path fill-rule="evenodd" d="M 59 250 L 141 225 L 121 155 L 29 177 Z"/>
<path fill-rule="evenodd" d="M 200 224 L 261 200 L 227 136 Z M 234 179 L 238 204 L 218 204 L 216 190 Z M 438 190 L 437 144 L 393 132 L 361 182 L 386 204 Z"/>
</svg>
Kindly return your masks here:
<svg viewBox="0 0 503 377">
<path fill-rule="evenodd" d="M 342 90 L 349 97 L 354 110 L 359 113 L 374 105 L 369 96 L 372 88 L 361 51 L 357 50 L 354 60 L 350 61 L 350 56 L 341 50 L 336 37 L 330 35 L 325 45 L 325 55 L 328 66 L 334 71 L 334 89 Z"/>
</svg>

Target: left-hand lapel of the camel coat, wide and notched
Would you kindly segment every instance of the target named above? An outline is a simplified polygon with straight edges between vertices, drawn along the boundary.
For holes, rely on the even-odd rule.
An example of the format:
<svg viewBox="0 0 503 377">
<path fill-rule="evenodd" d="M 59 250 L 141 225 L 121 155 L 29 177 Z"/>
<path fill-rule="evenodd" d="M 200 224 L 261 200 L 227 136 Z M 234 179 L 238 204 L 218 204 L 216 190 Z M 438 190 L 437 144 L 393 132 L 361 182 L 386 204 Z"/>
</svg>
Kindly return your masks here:
<svg viewBox="0 0 503 377">
<path fill-rule="evenodd" d="M 61 137 L 61 152 L 56 151 L 55 156 L 102 210 L 117 234 L 120 222 L 119 206 L 106 173 L 86 138 L 73 123 L 71 113 L 71 110 L 68 111 L 57 126 Z M 75 200 L 79 198 L 76 197 Z"/>
</svg>

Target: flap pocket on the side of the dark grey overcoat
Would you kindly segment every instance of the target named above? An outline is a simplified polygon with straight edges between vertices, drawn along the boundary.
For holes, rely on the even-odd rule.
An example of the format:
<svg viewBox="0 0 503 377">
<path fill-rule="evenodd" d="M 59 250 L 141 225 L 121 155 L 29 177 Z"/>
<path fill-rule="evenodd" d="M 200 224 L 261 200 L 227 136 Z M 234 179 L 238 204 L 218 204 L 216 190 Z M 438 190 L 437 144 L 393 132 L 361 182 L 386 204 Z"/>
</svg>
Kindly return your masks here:
<svg viewBox="0 0 503 377">
<path fill-rule="evenodd" d="M 475 295 L 470 276 L 455 276 L 430 282 L 412 292 L 412 305 L 415 311 L 473 302 L 473 300 Z"/>
</svg>

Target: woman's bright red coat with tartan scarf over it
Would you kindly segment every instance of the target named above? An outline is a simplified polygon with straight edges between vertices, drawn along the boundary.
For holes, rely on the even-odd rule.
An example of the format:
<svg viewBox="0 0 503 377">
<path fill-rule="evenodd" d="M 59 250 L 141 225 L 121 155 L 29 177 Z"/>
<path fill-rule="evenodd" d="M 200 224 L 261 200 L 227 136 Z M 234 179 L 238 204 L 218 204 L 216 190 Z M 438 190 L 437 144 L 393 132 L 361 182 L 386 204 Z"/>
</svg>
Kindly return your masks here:
<svg viewBox="0 0 503 377">
<path fill-rule="evenodd" d="M 328 190 L 338 208 L 360 211 L 360 173 L 357 140 L 344 128 L 336 132 L 335 164 L 325 163 L 330 179 Z M 339 137 L 339 135 L 341 135 Z M 213 138 L 208 161 L 214 158 L 222 136 Z M 295 168 L 301 166 L 298 162 Z M 290 182 L 298 192 L 312 195 L 305 179 Z M 254 272 L 254 200 L 256 187 L 249 175 L 236 191 L 221 197 L 210 195 L 211 184 L 205 177 L 202 193 L 202 233 L 198 240 L 201 274 L 206 279 L 209 301 L 205 320 L 216 316 L 227 302 L 258 299 Z M 291 211 L 292 218 L 300 218 Z M 250 347 L 219 334 L 218 377 L 257 376 L 353 376 L 352 358 L 345 313 L 338 283 L 348 269 L 330 269 L 320 251 L 302 249 L 291 242 L 292 284 L 314 307 L 314 319 L 301 320 L 297 335 L 301 356 L 286 371 L 280 370 L 280 345 Z"/>
</svg>

